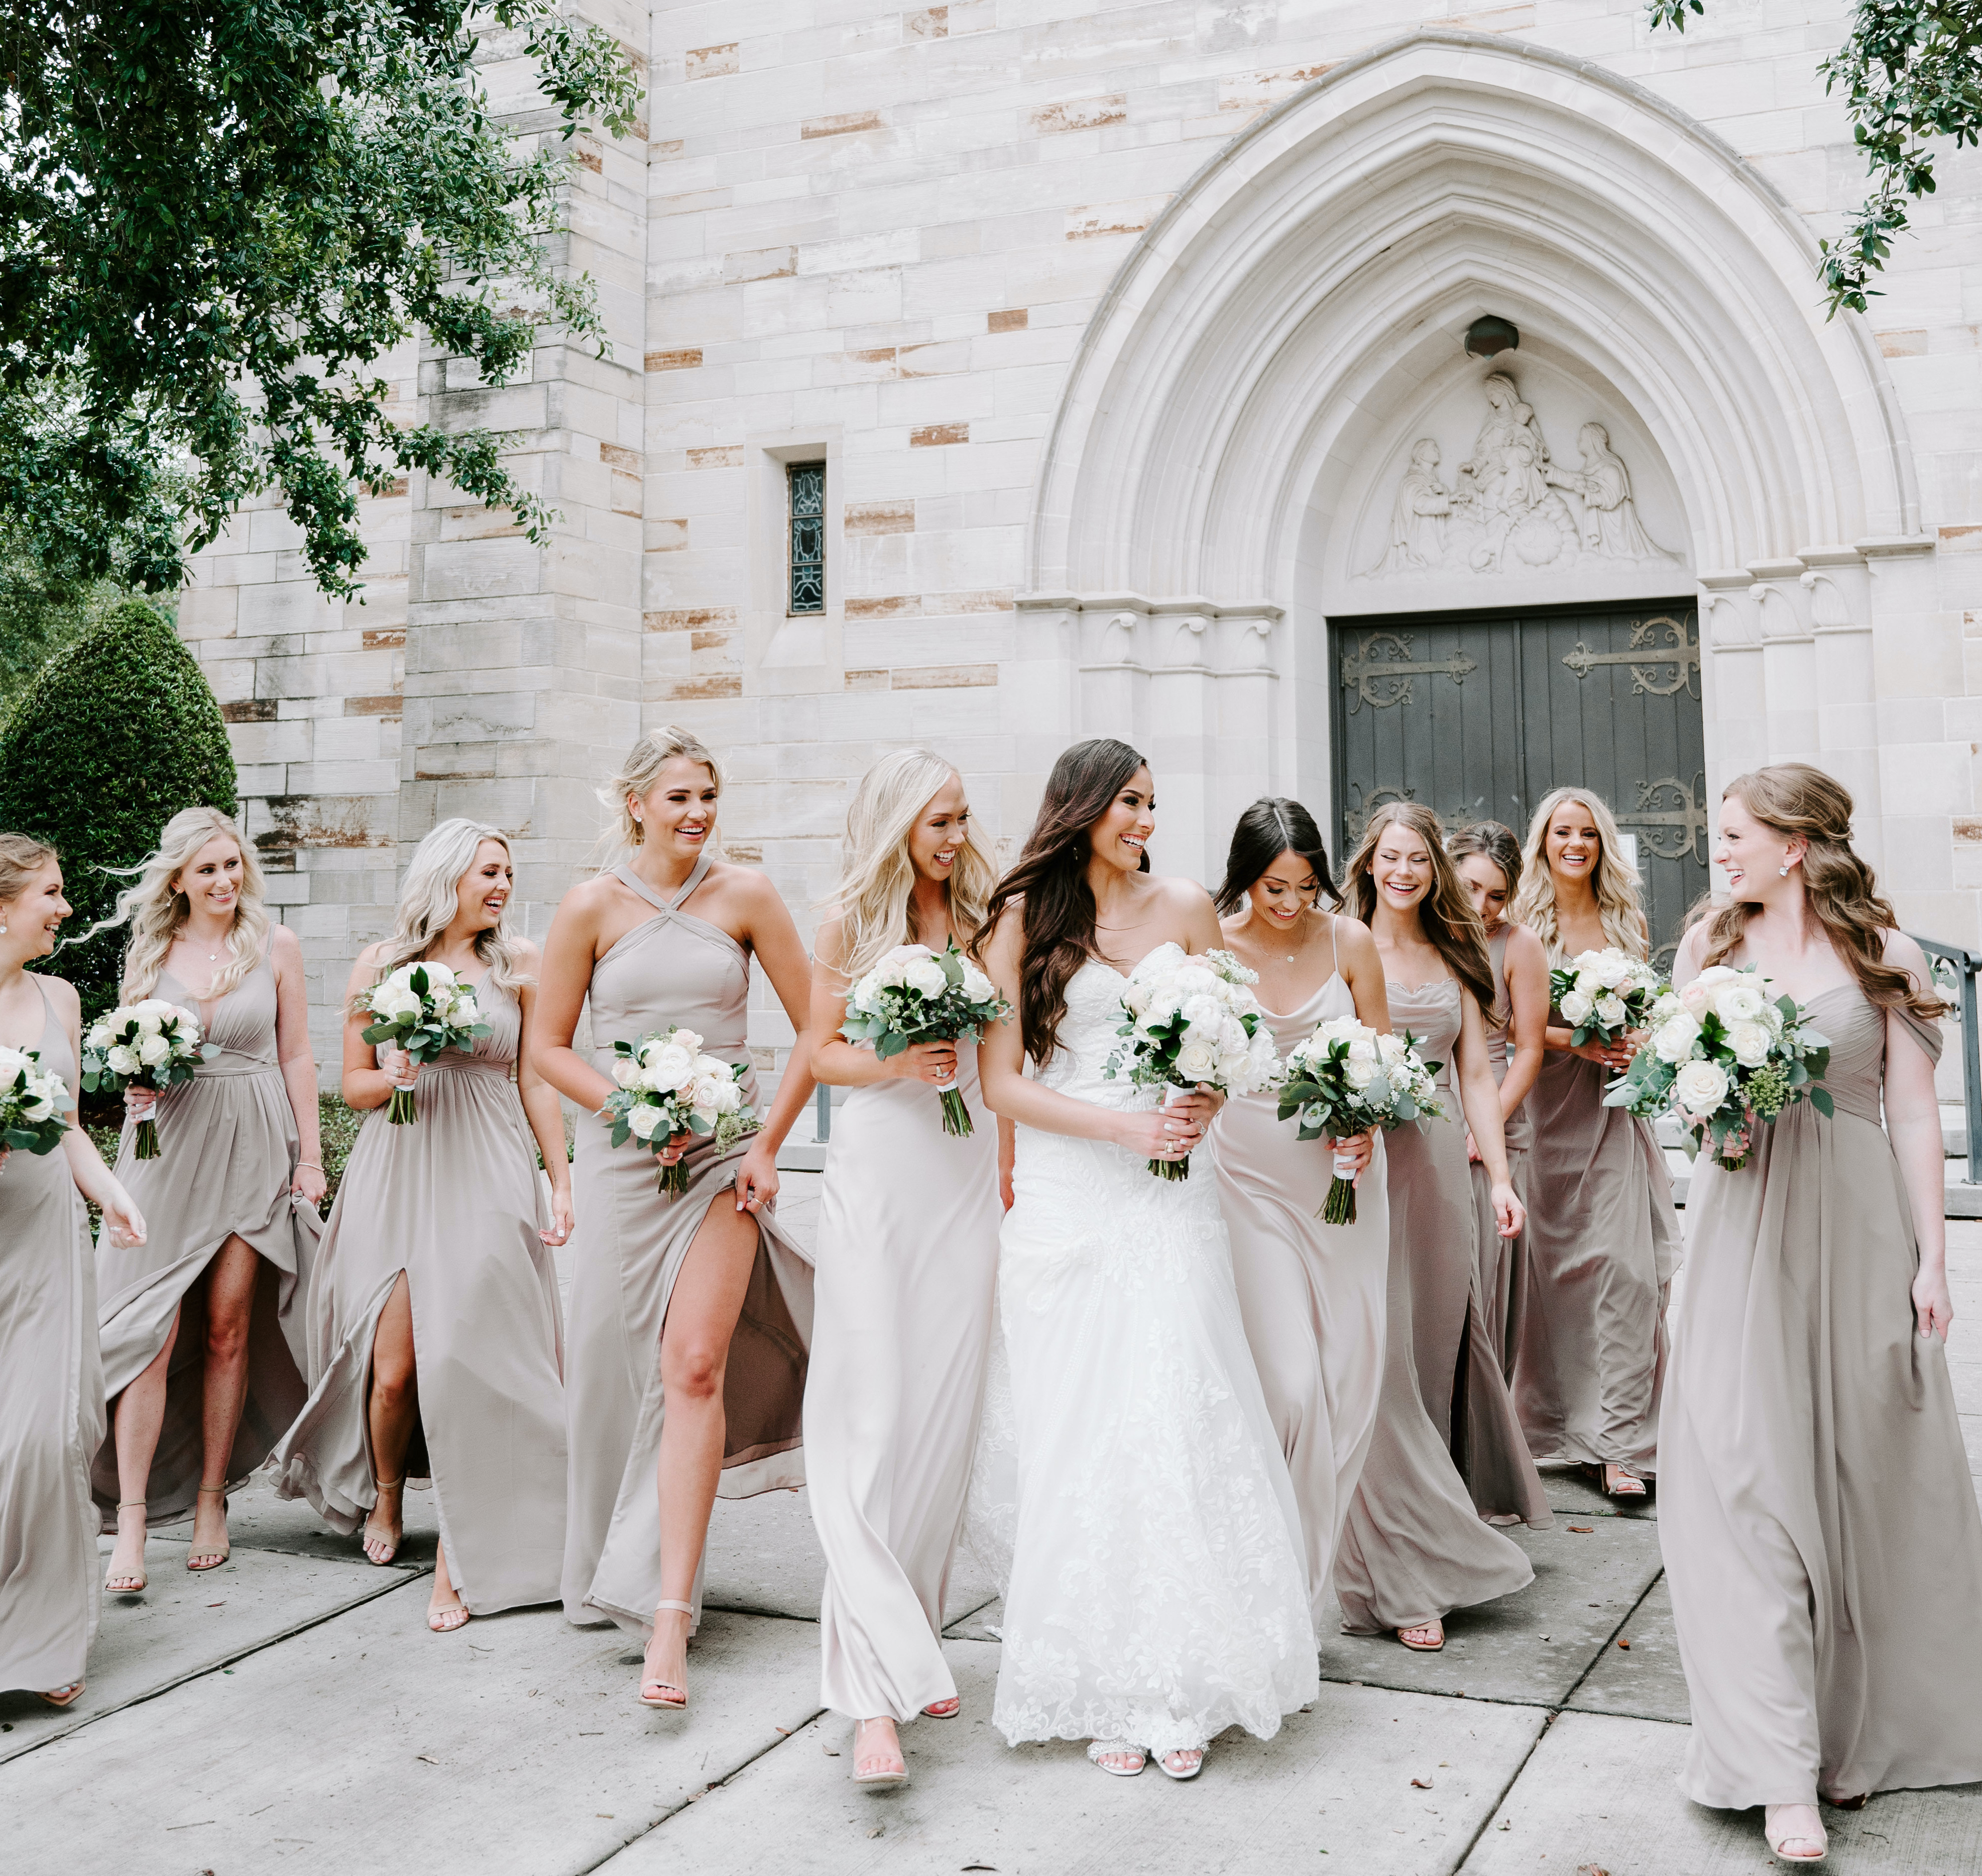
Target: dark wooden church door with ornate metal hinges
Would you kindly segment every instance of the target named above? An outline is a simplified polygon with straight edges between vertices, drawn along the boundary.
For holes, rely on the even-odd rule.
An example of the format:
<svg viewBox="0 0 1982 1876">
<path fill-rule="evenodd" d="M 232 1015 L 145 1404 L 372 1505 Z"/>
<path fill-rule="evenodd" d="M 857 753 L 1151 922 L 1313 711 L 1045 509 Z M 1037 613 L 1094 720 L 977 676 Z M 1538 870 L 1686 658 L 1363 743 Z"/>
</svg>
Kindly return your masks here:
<svg viewBox="0 0 1982 1876">
<path fill-rule="evenodd" d="M 1707 890 L 1707 738 L 1693 601 L 1340 619 L 1334 760 L 1340 851 L 1407 799 L 1449 829 L 1526 839 L 1552 787 L 1601 795 L 1637 845 L 1663 960 Z"/>
</svg>

